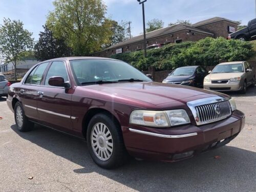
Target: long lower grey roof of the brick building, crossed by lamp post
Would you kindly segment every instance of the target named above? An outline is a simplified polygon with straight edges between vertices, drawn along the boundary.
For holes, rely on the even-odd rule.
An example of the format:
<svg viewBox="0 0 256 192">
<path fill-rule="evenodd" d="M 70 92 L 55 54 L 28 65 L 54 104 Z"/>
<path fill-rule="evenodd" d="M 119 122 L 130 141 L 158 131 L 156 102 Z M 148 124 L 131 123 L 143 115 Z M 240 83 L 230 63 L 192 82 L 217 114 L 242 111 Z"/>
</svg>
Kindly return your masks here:
<svg viewBox="0 0 256 192">
<path fill-rule="evenodd" d="M 152 31 L 152 32 L 148 32 L 148 33 L 146 33 L 146 39 L 151 39 L 151 38 L 154 38 L 154 37 L 157 37 L 157 36 L 165 35 L 165 34 L 168 34 L 168 33 L 174 33 L 174 32 L 178 32 L 178 31 L 185 30 L 185 29 L 188 29 L 188 30 L 191 30 L 191 31 L 194 31 L 194 32 L 208 34 L 208 35 L 214 35 L 212 33 L 203 31 L 201 29 L 197 29 L 193 26 L 184 25 L 184 24 L 177 24 L 177 25 L 157 29 L 157 30 Z M 120 47 L 120 46 L 132 44 L 134 42 L 142 41 L 143 38 L 144 38 L 144 36 L 142 34 L 142 35 L 127 39 L 125 41 L 122 41 L 119 44 L 108 47 L 105 50 L 109 50 L 109 49 L 117 48 L 117 47 Z"/>
</svg>

